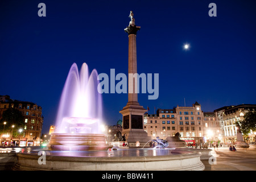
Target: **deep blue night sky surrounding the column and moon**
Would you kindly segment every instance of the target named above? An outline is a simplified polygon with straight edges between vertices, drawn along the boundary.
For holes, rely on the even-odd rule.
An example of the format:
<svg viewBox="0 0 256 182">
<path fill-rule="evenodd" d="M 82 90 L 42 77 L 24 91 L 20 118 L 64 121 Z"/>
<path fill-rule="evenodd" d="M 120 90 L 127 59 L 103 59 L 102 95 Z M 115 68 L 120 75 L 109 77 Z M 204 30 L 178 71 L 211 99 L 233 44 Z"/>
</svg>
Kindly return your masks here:
<svg viewBox="0 0 256 182">
<path fill-rule="evenodd" d="M 46 4 L 46 17 L 38 4 Z M 217 17 L 209 17 L 209 3 Z M 43 133 L 55 123 L 69 68 L 126 73 L 130 10 L 137 33 L 138 73 L 159 73 L 159 98 L 139 103 L 172 109 L 199 102 L 204 111 L 256 104 L 254 1 L 9 1 L 0 2 L 0 95 L 43 107 Z M 184 43 L 191 48 L 184 51 Z M 103 94 L 109 125 L 127 94 Z"/>
</svg>

